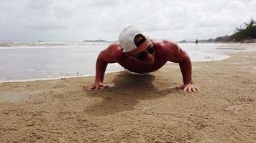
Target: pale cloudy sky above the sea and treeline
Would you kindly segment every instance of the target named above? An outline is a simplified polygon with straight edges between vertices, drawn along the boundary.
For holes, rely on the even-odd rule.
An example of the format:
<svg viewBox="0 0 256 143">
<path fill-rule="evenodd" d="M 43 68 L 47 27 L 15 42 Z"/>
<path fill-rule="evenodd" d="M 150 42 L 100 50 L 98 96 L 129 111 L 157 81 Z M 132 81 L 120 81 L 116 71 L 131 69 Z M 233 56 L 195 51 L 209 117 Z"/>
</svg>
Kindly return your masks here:
<svg viewBox="0 0 256 143">
<path fill-rule="evenodd" d="M 153 39 L 231 35 L 256 0 L 1 0 L 0 41 L 115 41 L 133 25 Z"/>
</svg>

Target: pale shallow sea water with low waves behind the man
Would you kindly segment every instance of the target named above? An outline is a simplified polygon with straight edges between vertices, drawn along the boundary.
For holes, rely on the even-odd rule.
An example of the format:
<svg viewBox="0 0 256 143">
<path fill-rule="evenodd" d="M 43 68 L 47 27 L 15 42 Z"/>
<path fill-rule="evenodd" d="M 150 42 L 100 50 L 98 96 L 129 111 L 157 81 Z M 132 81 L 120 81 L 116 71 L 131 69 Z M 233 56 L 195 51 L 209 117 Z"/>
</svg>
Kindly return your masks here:
<svg viewBox="0 0 256 143">
<path fill-rule="evenodd" d="M 0 82 L 19 82 L 95 75 L 96 58 L 110 43 L 0 41 Z M 191 61 L 229 58 L 229 44 L 179 44 Z M 122 71 L 109 64 L 106 72 Z"/>
</svg>

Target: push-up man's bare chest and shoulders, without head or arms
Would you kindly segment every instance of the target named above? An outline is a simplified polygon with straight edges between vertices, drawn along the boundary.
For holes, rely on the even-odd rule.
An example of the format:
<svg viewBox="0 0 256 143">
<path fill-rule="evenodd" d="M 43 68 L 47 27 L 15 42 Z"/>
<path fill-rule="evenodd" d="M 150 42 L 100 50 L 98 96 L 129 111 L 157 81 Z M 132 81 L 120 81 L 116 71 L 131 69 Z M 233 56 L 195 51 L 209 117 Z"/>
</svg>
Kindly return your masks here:
<svg viewBox="0 0 256 143">
<path fill-rule="evenodd" d="M 152 64 L 139 61 L 136 57 L 124 52 L 119 42 L 111 44 L 104 52 L 110 59 L 114 59 L 113 62 L 119 63 L 125 69 L 137 73 L 146 73 L 160 69 L 170 59 L 170 53 L 173 53 L 171 51 L 176 48 L 175 46 L 177 45 L 171 41 L 154 41 L 155 53 L 152 56 L 155 60 Z"/>
</svg>

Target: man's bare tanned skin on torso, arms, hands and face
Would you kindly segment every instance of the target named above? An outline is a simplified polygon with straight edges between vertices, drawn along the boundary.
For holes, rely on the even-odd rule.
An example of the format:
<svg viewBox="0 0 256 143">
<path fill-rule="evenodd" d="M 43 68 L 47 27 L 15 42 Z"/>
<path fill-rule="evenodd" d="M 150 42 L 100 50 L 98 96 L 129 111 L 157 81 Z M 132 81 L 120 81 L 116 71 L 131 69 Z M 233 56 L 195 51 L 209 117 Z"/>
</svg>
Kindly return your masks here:
<svg viewBox="0 0 256 143">
<path fill-rule="evenodd" d="M 137 54 L 142 51 L 147 51 L 149 47 L 155 44 L 155 54 L 147 54 L 147 58 L 144 61 L 137 59 Z M 178 89 L 183 89 L 184 92 L 197 92 L 197 87 L 192 82 L 192 69 L 191 59 L 186 51 L 180 49 L 180 47 L 173 41 L 161 40 L 155 41 L 147 39 L 137 49 L 130 52 L 124 52 L 119 42 L 114 42 L 108 48 L 101 51 L 96 61 L 96 78 L 95 82 L 88 85 L 88 90 L 98 90 L 100 87 L 109 87 L 104 84 L 104 74 L 106 66 L 109 63 L 119 63 L 125 69 L 136 73 L 147 73 L 160 69 L 167 61 L 179 63 L 180 71 L 183 77 L 183 84 Z"/>
</svg>

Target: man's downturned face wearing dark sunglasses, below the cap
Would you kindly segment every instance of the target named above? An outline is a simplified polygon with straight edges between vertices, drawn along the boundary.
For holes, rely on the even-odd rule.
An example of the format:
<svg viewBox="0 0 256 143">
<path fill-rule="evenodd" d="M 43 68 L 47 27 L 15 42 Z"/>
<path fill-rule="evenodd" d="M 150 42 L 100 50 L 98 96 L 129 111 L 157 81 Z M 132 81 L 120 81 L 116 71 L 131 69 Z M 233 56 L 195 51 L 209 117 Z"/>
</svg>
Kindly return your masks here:
<svg viewBox="0 0 256 143">
<path fill-rule="evenodd" d="M 140 38 L 138 41 L 140 41 Z M 153 64 L 155 61 L 155 51 L 153 46 L 154 44 L 152 41 L 150 41 L 150 39 L 146 39 L 142 44 L 140 44 L 140 46 L 137 46 L 137 49 L 130 51 L 129 54 L 134 56 L 143 64 Z"/>
</svg>

